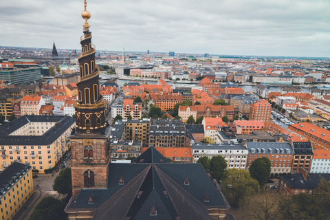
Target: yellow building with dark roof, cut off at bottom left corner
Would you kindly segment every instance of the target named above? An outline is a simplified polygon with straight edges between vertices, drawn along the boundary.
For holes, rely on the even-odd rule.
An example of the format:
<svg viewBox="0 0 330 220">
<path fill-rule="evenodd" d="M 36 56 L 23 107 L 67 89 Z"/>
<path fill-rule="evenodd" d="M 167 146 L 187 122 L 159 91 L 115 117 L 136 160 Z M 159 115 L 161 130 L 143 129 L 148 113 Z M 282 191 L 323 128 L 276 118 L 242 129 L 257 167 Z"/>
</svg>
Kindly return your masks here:
<svg viewBox="0 0 330 220">
<path fill-rule="evenodd" d="M 32 166 L 14 162 L 0 173 L 0 216 L 11 220 L 34 193 Z"/>
</svg>

